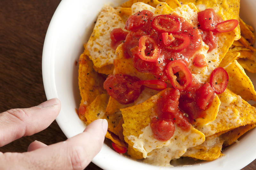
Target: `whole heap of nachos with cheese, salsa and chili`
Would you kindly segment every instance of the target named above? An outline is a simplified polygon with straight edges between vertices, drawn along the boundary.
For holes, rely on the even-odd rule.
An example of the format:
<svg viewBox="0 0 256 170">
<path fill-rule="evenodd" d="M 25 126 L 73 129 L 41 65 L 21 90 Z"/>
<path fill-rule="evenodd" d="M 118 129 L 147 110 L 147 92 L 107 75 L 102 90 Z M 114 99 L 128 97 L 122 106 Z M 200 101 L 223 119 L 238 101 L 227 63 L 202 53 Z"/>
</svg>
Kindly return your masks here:
<svg viewBox="0 0 256 170">
<path fill-rule="evenodd" d="M 229 50 L 234 40 L 240 42 L 239 1 L 202 2 L 128 1 L 100 13 L 80 57 L 80 63 L 90 58 L 94 66 L 79 73 L 79 81 L 87 83 L 79 83 L 81 93 L 95 99 L 82 97 L 79 117 L 87 124 L 107 119 L 106 137 L 117 151 L 127 149 L 134 159 L 164 166 L 181 156 L 213 160 L 222 155 L 223 143 L 238 138 L 231 130 L 242 134 L 256 123 L 255 108 L 243 100 L 254 99 L 255 90 L 236 61 L 238 50 Z M 225 15 L 230 10 L 233 15 Z M 216 69 L 219 65 L 224 69 Z"/>
</svg>

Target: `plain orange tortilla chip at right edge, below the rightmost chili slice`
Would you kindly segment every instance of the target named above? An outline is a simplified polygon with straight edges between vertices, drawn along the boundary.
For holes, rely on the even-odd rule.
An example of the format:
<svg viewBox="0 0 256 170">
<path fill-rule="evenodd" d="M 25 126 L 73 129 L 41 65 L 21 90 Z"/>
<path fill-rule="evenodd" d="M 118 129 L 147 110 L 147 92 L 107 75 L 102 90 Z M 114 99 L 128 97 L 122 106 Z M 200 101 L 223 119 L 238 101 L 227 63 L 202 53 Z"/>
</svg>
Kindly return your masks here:
<svg viewBox="0 0 256 170">
<path fill-rule="evenodd" d="M 244 72 L 243 67 L 234 60 L 231 64 L 224 67 L 228 73 L 228 89 L 240 95 L 244 100 L 256 101 L 256 91 L 250 78 Z"/>
</svg>

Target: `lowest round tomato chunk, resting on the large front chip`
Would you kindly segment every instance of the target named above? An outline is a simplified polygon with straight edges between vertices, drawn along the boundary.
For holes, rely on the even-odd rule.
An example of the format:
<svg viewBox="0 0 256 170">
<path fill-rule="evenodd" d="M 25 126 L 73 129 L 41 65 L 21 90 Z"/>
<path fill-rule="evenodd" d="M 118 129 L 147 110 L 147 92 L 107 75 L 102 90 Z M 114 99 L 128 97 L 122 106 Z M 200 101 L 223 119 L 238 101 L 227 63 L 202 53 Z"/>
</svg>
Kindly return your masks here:
<svg viewBox="0 0 256 170">
<path fill-rule="evenodd" d="M 159 141 L 169 140 L 175 131 L 175 126 L 172 120 L 170 119 L 156 119 L 154 118 L 151 121 L 150 127 L 154 134 L 154 137 Z"/>
</svg>

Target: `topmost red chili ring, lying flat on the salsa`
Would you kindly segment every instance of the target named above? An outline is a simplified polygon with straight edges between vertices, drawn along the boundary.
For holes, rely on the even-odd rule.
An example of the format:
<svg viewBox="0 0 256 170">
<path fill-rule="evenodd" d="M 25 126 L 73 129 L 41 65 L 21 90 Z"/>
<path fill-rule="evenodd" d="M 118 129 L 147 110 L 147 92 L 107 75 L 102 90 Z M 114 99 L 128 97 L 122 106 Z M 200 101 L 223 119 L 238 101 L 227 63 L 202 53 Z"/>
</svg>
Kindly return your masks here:
<svg viewBox="0 0 256 170">
<path fill-rule="evenodd" d="M 153 19 L 151 26 L 160 33 L 175 33 L 180 30 L 181 22 L 179 18 L 175 18 L 171 15 L 158 15 Z"/>
</svg>

